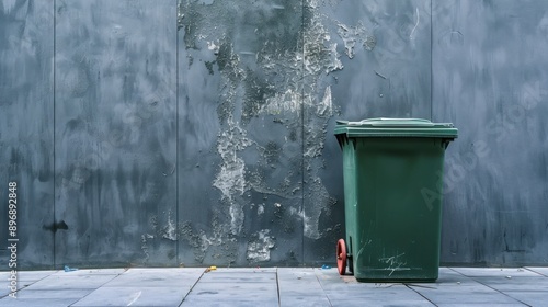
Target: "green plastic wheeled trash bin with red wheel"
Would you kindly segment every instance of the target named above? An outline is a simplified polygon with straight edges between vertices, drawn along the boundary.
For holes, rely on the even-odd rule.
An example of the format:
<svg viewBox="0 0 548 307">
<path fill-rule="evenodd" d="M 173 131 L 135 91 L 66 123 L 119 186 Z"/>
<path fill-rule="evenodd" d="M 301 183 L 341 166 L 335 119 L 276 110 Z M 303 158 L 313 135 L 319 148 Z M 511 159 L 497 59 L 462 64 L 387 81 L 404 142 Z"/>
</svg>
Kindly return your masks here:
<svg viewBox="0 0 548 307">
<path fill-rule="evenodd" d="M 434 282 L 439 270 L 445 149 L 453 124 L 419 118 L 338 121 L 346 238 L 336 245 L 359 282 Z"/>
</svg>

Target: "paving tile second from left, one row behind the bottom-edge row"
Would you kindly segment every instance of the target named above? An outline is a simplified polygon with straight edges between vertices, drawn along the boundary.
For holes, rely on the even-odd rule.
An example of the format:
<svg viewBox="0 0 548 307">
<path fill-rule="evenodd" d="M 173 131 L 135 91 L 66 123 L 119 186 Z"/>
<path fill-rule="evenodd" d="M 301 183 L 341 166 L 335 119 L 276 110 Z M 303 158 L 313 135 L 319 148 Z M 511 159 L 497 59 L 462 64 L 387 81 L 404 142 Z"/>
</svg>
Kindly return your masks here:
<svg viewBox="0 0 548 307">
<path fill-rule="evenodd" d="M 85 289 L 98 288 L 116 275 L 57 275 L 33 283 L 27 289 Z"/>
</svg>

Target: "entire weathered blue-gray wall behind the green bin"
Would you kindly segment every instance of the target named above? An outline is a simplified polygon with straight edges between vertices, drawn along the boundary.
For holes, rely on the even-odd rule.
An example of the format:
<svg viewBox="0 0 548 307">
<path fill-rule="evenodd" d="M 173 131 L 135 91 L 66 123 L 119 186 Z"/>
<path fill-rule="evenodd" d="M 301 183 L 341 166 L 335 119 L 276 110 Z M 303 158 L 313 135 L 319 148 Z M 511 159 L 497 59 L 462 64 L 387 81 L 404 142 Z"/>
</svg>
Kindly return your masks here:
<svg viewBox="0 0 548 307">
<path fill-rule="evenodd" d="M 380 116 L 459 128 L 443 262 L 545 264 L 546 7 L 1 1 L 21 266 L 334 262 L 334 123 Z"/>
</svg>

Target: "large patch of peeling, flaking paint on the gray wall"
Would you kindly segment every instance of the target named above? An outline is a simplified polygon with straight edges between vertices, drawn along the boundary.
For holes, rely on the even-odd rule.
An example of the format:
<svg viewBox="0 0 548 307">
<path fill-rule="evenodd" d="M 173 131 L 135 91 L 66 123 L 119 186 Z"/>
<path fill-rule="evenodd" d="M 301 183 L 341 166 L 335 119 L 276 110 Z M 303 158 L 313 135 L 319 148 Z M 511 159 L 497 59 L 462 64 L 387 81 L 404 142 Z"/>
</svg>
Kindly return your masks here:
<svg viewBox="0 0 548 307">
<path fill-rule="evenodd" d="M 331 42 L 330 33 L 323 25 L 327 19 L 323 19 L 317 9 L 318 2 L 307 1 L 304 4 L 306 11 L 304 27 L 301 27 L 301 16 L 289 11 L 292 7 L 301 4 L 294 1 L 284 2 L 276 5 L 263 2 L 248 3 L 248 1 L 233 1 L 228 5 L 215 1 L 208 5 L 198 5 L 191 1 L 180 3 L 180 29 L 185 32 L 186 48 L 201 49 L 202 55 L 210 53 L 206 56 L 207 59 L 199 61 L 196 60 L 198 53 L 193 53 L 190 65 L 204 62 L 209 73 L 218 72 L 221 78 L 217 109 L 220 124 L 217 152 L 221 163 L 213 186 L 221 192 L 219 208 L 221 215 L 226 216 L 226 223 L 220 225 L 229 231 L 221 232 L 220 241 L 226 246 L 237 246 L 238 236 L 244 235 L 243 226 L 248 219 L 246 212 L 253 205 L 246 197 L 248 192 L 275 195 L 286 200 L 300 197 L 297 193 L 301 190 L 302 183 L 295 182 L 294 170 L 286 170 L 288 175 L 279 186 L 266 183 L 267 174 L 261 170 L 264 167 L 275 166 L 275 157 L 283 154 L 281 149 L 288 144 L 302 141 L 307 146 L 306 152 L 302 152 L 305 156 L 301 157 L 307 157 L 304 167 L 311 175 L 310 191 L 316 191 L 318 195 L 313 196 L 313 206 L 305 208 L 288 206 L 289 209 L 285 211 L 278 204 L 274 206 L 274 215 L 293 218 L 293 223 L 302 223 L 305 236 L 319 239 L 322 236 L 319 229 L 320 216 L 329 215 L 330 207 L 335 202 L 329 196 L 318 174 L 323 163 L 321 151 L 326 140 L 327 122 L 338 113 L 338 107 L 332 101 L 331 87 L 319 88 L 317 81 L 322 76 L 343 69 L 343 66 L 336 43 Z M 251 24 L 254 14 L 265 14 L 261 18 L 258 15 L 256 29 L 249 34 L 249 42 L 246 44 L 239 43 L 239 34 L 232 26 L 216 26 L 219 20 L 238 19 L 241 18 L 241 13 L 247 14 Z M 269 27 L 269 18 L 274 21 L 276 15 L 284 16 L 285 22 L 288 22 L 289 37 L 281 38 L 281 33 L 273 30 L 275 27 Z M 276 24 L 278 22 L 281 20 L 275 21 Z M 295 27 L 290 27 L 292 22 L 295 22 Z M 283 35 L 287 36 L 287 32 Z M 293 41 L 289 39 L 292 36 Z M 299 121 L 302 112 L 312 112 L 313 117 L 307 116 L 307 122 L 300 123 L 299 126 L 296 120 Z M 263 116 L 276 116 L 274 124 L 279 123 L 285 126 L 286 144 L 271 141 L 263 146 L 259 139 L 250 137 L 248 125 L 255 121 L 254 118 Z M 302 129 L 305 139 L 299 140 L 299 134 L 296 132 Z M 259 155 L 259 164 L 249 164 L 250 161 L 244 159 L 244 152 Z M 290 212 L 299 214 L 289 214 Z M 264 204 L 259 205 L 256 214 L 266 215 L 269 211 Z M 286 225 L 284 229 L 289 231 L 293 226 Z M 261 238 L 267 238 L 265 232 L 256 234 L 260 234 L 258 236 L 262 236 Z M 186 237 L 189 236 L 192 237 L 187 234 Z M 195 237 L 187 240 L 193 241 L 194 248 L 204 247 Z M 256 242 L 248 243 L 246 257 L 248 261 L 266 259 L 264 252 L 250 255 L 250 249 L 255 250 L 256 245 Z"/>
</svg>

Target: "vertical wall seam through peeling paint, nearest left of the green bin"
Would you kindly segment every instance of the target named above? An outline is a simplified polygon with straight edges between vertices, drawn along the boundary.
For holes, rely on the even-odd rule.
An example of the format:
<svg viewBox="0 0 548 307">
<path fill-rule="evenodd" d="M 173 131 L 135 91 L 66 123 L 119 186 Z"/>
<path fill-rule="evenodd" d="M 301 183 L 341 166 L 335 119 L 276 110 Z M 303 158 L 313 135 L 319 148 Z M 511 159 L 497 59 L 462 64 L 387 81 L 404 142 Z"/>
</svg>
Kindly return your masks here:
<svg viewBox="0 0 548 307">
<path fill-rule="evenodd" d="M 302 184 L 302 193 L 300 196 L 300 207 L 301 207 L 301 213 L 302 213 L 302 231 L 301 231 L 301 240 L 300 240 L 300 250 L 301 250 L 301 257 L 302 261 L 300 263 L 305 263 L 305 146 L 306 146 L 306 140 L 305 140 L 305 87 L 306 87 L 306 80 L 305 80 L 305 1 L 301 0 L 301 12 L 300 12 L 300 42 L 302 44 L 302 57 L 301 57 L 301 67 L 300 67 L 300 73 L 301 73 L 301 89 L 300 89 L 300 124 L 302 125 L 302 144 L 301 144 L 301 184 Z"/>
</svg>

